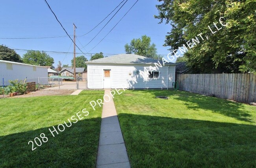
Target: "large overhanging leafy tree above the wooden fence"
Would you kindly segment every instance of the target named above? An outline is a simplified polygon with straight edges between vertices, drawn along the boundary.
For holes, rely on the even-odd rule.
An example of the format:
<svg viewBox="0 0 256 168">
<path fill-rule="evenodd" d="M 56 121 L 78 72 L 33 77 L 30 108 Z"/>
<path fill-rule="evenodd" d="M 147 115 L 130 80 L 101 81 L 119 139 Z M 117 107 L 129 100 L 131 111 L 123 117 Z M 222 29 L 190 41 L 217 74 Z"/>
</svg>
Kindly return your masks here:
<svg viewBox="0 0 256 168">
<path fill-rule="evenodd" d="M 227 73 L 255 72 L 255 0 L 158 1 L 162 4 L 156 5 L 159 15 L 155 18 L 160 19 L 160 23 L 165 20 L 166 24 L 171 24 L 164 46 L 170 46 L 173 51 L 192 38 L 201 40 L 184 55 L 193 70 L 198 73 L 212 69 Z M 219 31 L 215 32 L 213 22 Z"/>
</svg>

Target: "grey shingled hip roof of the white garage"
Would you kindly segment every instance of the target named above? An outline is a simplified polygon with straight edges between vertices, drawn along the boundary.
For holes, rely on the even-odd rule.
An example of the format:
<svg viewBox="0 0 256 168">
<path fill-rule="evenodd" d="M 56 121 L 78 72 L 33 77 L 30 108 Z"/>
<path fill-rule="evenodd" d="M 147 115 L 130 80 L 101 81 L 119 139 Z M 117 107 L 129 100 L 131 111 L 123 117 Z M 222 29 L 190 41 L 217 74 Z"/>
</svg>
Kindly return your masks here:
<svg viewBox="0 0 256 168">
<path fill-rule="evenodd" d="M 162 63 L 162 60 L 156 60 L 153 58 L 147 58 L 136 54 L 118 54 L 110 57 L 104 57 L 92 61 L 87 61 L 87 63 L 115 63 L 115 64 L 154 64 Z M 174 63 L 165 63 L 174 64 Z"/>
</svg>

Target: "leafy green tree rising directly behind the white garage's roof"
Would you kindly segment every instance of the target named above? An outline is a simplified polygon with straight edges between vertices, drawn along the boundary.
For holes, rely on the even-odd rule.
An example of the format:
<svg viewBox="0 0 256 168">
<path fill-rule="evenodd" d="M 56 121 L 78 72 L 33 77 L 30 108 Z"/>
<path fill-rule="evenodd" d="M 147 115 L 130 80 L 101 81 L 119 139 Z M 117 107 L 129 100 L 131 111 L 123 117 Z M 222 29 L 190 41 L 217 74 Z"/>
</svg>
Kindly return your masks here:
<svg viewBox="0 0 256 168">
<path fill-rule="evenodd" d="M 125 44 L 126 54 L 137 54 L 148 58 L 157 58 L 156 44 L 150 44 L 151 38 L 143 35 L 141 38 L 132 39 L 129 44 Z"/>
</svg>

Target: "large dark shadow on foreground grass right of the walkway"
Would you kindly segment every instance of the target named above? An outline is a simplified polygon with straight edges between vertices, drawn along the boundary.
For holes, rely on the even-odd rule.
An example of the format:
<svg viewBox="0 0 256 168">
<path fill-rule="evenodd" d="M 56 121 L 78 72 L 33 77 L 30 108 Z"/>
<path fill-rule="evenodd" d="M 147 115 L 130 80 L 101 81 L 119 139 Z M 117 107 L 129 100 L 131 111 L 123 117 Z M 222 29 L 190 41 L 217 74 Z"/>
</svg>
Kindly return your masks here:
<svg viewBox="0 0 256 168">
<path fill-rule="evenodd" d="M 256 126 L 119 114 L 132 167 L 255 167 Z"/>
</svg>

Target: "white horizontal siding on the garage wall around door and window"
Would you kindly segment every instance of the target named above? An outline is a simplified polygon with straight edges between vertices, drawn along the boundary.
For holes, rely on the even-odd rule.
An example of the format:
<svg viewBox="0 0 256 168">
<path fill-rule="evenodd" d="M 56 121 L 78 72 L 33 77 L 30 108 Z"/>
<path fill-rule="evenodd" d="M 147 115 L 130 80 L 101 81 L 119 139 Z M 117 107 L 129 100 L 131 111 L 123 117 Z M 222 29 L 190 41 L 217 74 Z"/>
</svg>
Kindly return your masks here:
<svg viewBox="0 0 256 168">
<path fill-rule="evenodd" d="M 103 71 L 104 69 L 111 69 L 111 88 L 133 88 L 133 89 L 148 89 L 148 88 L 167 88 L 167 80 L 169 77 L 169 88 L 172 88 L 172 83 L 175 81 L 175 65 L 168 65 L 159 68 L 159 78 L 150 79 L 148 75 L 141 76 L 137 71 L 144 71 L 144 66 L 149 67 L 148 64 L 88 64 L 88 88 L 89 89 L 103 89 Z M 151 65 L 155 67 L 154 65 Z M 136 80 L 133 82 L 132 79 Z M 132 84 L 130 86 L 129 82 Z"/>
</svg>

